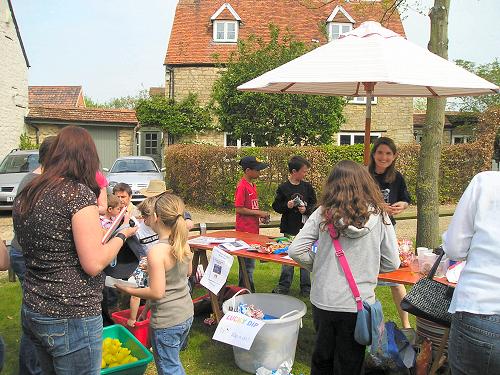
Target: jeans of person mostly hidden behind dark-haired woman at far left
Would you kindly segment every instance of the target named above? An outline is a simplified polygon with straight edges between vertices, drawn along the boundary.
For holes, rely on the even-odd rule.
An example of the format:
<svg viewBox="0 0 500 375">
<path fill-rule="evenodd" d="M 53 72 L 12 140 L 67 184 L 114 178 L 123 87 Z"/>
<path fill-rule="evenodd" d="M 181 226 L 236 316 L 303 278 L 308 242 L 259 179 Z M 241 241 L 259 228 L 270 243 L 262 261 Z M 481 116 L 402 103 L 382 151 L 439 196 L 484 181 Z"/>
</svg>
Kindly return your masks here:
<svg viewBox="0 0 500 375">
<path fill-rule="evenodd" d="M 9 255 L 12 269 L 19 279 L 21 289 L 24 292 L 26 263 L 24 262 L 23 253 L 14 246 L 9 246 Z M 19 373 L 23 375 L 40 375 L 42 373 L 42 369 L 36 358 L 35 344 L 24 332 L 21 332 L 21 343 L 19 345 Z"/>
</svg>

